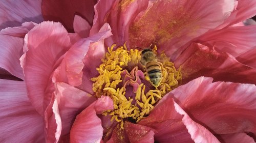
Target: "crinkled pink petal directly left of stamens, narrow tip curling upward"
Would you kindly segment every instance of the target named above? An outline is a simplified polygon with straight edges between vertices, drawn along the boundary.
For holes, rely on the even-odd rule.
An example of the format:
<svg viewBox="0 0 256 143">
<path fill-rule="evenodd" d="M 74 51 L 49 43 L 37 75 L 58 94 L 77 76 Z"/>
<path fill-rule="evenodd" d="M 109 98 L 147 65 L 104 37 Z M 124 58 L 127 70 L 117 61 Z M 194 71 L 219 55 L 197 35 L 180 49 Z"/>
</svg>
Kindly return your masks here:
<svg viewBox="0 0 256 143">
<path fill-rule="evenodd" d="M 93 93 L 90 79 L 97 75 L 96 67 L 100 65 L 105 53 L 103 39 L 111 35 L 110 26 L 104 24 L 98 34 L 81 39 L 74 44 L 55 71 L 54 82 L 66 82 L 73 86 L 80 85 L 79 89 Z"/>
</svg>

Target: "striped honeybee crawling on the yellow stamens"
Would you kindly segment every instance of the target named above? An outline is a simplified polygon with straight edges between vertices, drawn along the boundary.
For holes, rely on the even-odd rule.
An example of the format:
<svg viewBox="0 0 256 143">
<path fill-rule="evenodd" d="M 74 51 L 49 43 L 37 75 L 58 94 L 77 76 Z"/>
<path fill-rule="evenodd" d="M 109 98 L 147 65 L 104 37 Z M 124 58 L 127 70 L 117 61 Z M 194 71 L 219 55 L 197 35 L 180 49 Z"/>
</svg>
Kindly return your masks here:
<svg viewBox="0 0 256 143">
<path fill-rule="evenodd" d="M 156 54 L 150 48 L 143 49 L 141 51 L 140 63 L 145 66 L 151 84 L 157 88 L 162 80 L 162 70 Z"/>
</svg>

